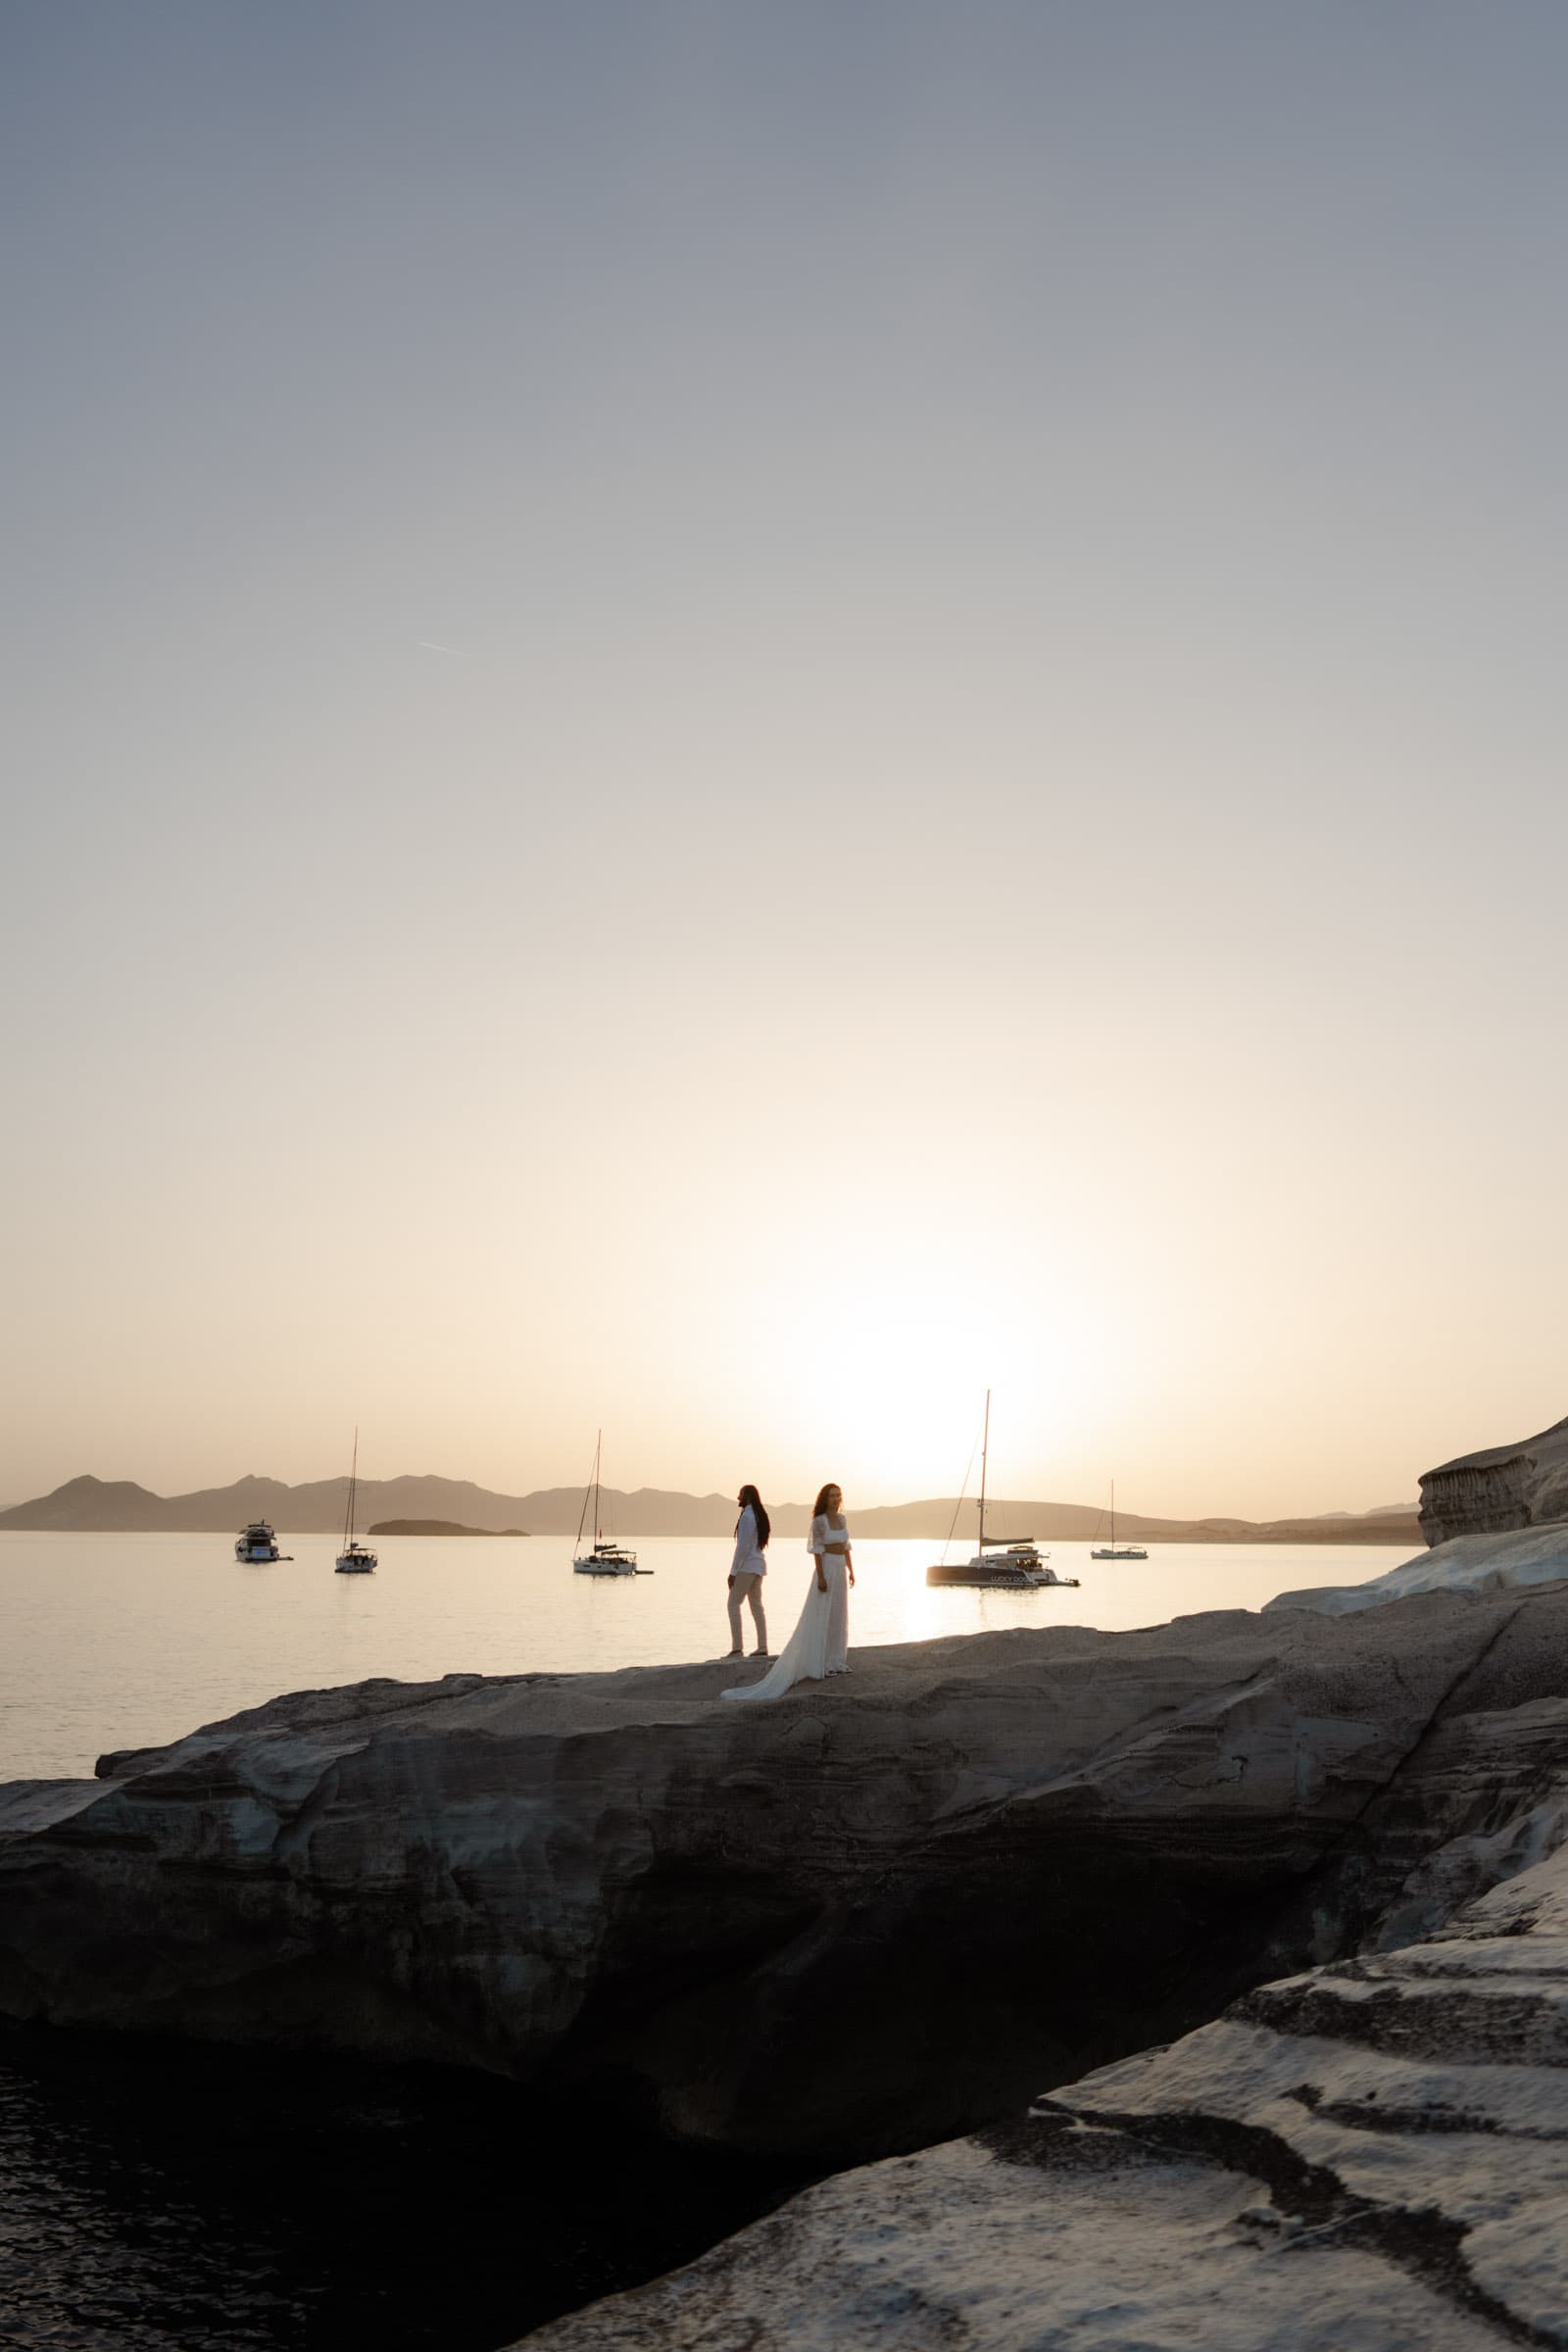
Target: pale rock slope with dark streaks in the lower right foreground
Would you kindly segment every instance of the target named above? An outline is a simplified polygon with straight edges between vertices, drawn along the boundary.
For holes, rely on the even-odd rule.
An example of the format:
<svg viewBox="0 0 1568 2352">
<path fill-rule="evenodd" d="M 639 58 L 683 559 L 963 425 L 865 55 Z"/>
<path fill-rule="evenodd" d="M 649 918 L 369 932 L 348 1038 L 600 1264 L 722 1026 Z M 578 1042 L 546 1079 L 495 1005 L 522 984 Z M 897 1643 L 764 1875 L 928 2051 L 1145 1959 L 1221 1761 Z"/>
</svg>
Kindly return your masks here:
<svg viewBox="0 0 1568 2352">
<path fill-rule="evenodd" d="M 1436 1940 L 1265 1985 L 1018 2124 L 827 2180 L 529 2347 L 1568 2345 L 1566 2070 L 1554 1853 Z"/>
</svg>

